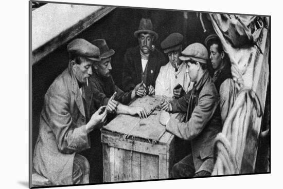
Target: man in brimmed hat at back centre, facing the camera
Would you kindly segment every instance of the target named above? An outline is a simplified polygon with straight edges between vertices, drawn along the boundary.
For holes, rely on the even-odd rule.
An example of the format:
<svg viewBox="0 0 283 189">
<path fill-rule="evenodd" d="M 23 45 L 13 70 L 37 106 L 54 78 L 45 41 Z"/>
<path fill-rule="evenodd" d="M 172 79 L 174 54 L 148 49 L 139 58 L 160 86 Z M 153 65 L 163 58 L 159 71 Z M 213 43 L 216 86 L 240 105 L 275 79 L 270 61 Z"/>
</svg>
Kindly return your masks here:
<svg viewBox="0 0 283 189">
<path fill-rule="evenodd" d="M 165 65 L 165 58 L 153 45 L 158 34 L 152 30 L 150 19 L 141 18 L 134 36 L 138 38 L 139 45 L 126 51 L 122 87 L 124 91 L 130 91 L 143 81 L 151 95 L 154 94 L 155 80 L 160 67 Z"/>
</svg>

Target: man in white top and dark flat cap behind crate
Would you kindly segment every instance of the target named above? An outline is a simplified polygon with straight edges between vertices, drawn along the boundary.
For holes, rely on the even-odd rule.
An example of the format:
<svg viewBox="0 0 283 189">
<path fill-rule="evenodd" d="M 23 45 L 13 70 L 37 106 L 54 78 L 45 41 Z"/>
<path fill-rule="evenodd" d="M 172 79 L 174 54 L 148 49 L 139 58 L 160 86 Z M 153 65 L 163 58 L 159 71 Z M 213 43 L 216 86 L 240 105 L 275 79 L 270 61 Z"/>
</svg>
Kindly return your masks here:
<svg viewBox="0 0 283 189">
<path fill-rule="evenodd" d="M 187 65 L 179 59 L 183 38 L 180 33 L 172 33 L 161 43 L 169 62 L 161 67 L 156 78 L 155 95 L 165 95 L 178 99 L 192 88 L 189 89 L 190 78 L 186 72 Z"/>
</svg>

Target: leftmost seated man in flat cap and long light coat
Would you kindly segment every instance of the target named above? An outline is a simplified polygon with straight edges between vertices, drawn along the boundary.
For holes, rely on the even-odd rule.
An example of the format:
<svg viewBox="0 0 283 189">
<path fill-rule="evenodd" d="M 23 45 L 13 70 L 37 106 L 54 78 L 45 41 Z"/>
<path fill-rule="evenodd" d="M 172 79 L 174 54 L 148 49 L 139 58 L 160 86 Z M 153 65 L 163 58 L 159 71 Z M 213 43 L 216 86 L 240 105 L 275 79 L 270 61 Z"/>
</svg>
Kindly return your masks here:
<svg viewBox="0 0 283 189">
<path fill-rule="evenodd" d="M 67 50 L 68 68 L 45 94 L 33 156 L 33 169 L 52 185 L 89 182 L 89 162 L 78 152 L 90 148 L 89 133 L 99 130 L 107 116 L 102 108 L 91 115 L 86 107 L 86 82 L 99 49 L 79 38 Z"/>
</svg>

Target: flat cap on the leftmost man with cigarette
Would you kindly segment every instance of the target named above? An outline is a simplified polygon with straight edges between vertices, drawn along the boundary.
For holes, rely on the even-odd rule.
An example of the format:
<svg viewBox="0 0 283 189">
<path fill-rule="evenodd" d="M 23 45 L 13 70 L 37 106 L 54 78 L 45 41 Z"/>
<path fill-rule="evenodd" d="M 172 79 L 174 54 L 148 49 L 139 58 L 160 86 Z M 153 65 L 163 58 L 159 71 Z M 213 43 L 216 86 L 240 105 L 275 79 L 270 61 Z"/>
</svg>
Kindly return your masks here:
<svg viewBox="0 0 283 189">
<path fill-rule="evenodd" d="M 67 50 L 72 55 L 82 56 L 91 60 L 100 60 L 99 48 L 82 38 L 71 41 L 67 46 Z"/>
</svg>

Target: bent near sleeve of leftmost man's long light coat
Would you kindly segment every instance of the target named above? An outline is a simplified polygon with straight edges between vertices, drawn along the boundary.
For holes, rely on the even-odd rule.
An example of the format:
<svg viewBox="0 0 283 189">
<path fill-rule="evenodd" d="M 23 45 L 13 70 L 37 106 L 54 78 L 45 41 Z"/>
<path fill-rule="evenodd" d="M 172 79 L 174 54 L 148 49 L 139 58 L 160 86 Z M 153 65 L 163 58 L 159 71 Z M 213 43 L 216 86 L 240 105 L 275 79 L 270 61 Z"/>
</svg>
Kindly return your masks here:
<svg viewBox="0 0 283 189">
<path fill-rule="evenodd" d="M 45 95 L 43 114 L 53 131 L 58 149 L 72 154 L 90 148 L 85 125 L 78 125 L 70 114 L 69 96 L 64 90 L 56 90 Z"/>
</svg>

